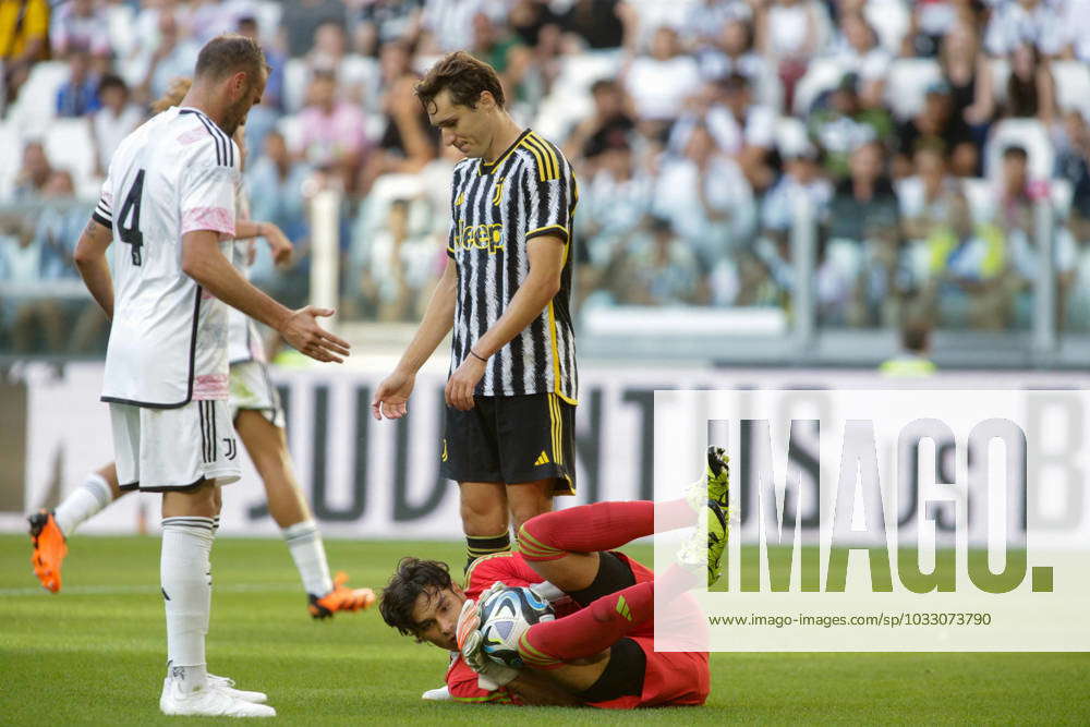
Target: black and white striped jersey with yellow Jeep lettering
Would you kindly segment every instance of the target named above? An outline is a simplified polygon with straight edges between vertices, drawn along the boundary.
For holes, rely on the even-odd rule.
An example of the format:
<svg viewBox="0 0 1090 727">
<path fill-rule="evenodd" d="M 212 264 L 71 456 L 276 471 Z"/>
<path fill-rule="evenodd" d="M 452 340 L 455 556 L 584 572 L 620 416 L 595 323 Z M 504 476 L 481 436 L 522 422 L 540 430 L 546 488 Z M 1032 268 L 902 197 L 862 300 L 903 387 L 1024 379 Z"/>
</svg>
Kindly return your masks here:
<svg viewBox="0 0 1090 727">
<path fill-rule="evenodd" d="M 559 292 L 492 356 L 477 395 L 556 393 L 576 403 L 579 381 L 570 300 L 578 199 L 571 165 L 556 146 L 529 129 L 496 161 L 464 159 L 455 167 L 447 243 L 447 254 L 458 266 L 451 373 L 525 281 L 528 243 L 543 235 L 565 243 Z"/>
</svg>

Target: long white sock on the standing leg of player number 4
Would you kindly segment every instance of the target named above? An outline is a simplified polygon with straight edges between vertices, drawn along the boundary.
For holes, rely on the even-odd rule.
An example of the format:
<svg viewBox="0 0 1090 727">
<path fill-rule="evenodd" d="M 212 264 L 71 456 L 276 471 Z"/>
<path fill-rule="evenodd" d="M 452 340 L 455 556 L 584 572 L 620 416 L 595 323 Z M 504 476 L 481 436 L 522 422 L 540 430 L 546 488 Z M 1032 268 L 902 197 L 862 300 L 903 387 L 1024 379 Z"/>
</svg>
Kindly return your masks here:
<svg viewBox="0 0 1090 727">
<path fill-rule="evenodd" d="M 211 609 L 213 519 L 162 521 L 159 579 L 167 610 L 167 662 L 184 692 L 205 684 L 205 634 Z"/>
</svg>

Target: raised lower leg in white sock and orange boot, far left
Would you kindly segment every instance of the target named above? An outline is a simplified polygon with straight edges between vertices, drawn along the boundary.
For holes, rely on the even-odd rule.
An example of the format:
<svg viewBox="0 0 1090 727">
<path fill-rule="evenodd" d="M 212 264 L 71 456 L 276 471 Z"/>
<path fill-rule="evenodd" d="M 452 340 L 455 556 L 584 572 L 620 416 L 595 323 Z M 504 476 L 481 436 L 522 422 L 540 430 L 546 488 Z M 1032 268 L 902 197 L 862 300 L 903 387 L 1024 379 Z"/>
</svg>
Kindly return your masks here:
<svg viewBox="0 0 1090 727">
<path fill-rule="evenodd" d="M 56 510 L 40 510 L 27 518 L 34 547 L 31 562 L 44 589 L 52 593 L 61 590 L 61 564 L 68 555 L 68 538 L 122 494 L 118 470 L 111 462 L 89 474 Z"/>
</svg>

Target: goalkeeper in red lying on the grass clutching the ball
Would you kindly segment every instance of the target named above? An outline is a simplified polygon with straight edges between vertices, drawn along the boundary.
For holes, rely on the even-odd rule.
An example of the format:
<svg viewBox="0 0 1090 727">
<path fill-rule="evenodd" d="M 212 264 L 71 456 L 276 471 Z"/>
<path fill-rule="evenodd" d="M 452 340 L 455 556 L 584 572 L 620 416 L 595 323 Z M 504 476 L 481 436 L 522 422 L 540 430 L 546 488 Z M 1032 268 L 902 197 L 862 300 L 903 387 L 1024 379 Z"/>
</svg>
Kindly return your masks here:
<svg viewBox="0 0 1090 727">
<path fill-rule="evenodd" d="M 711 449 L 710 580 L 718 574 L 726 542 L 727 476 L 723 451 Z M 704 498 L 691 499 L 702 504 Z M 451 580 L 446 564 L 404 558 L 383 593 L 383 618 L 403 634 L 453 652 L 447 688 L 458 701 L 620 710 L 703 704 L 710 689 L 707 653 L 655 652 L 655 574 L 614 552 L 654 532 L 656 507 L 659 528 L 695 520 L 687 500 L 598 502 L 540 514 L 519 532 L 520 553 L 477 559 L 464 589 Z M 683 594 L 697 581 L 690 570 L 677 567 L 658 581 L 659 605 L 664 594 L 671 597 L 673 632 L 704 628 L 700 611 Z M 473 599 L 487 598 L 497 582 L 532 586 L 556 613 L 556 620 L 534 623 L 519 640 L 523 669 L 485 657 L 480 639 L 467 638 L 479 626 Z M 693 637 L 693 643 L 701 643 L 700 633 Z"/>
</svg>

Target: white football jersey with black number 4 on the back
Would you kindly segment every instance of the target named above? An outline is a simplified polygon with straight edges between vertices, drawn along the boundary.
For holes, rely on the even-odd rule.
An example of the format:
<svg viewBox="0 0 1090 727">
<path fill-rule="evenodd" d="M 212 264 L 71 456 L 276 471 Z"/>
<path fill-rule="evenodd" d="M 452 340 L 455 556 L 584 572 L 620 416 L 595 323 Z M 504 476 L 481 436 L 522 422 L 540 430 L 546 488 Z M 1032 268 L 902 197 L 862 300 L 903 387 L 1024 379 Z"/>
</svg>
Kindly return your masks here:
<svg viewBox="0 0 1090 727">
<path fill-rule="evenodd" d="M 228 396 L 227 308 L 182 271 L 182 235 L 220 234 L 230 259 L 241 155 L 196 109 L 121 143 L 94 218 L 113 230 L 113 322 L 102 400 L 169 409 Z"/>
</svg>

